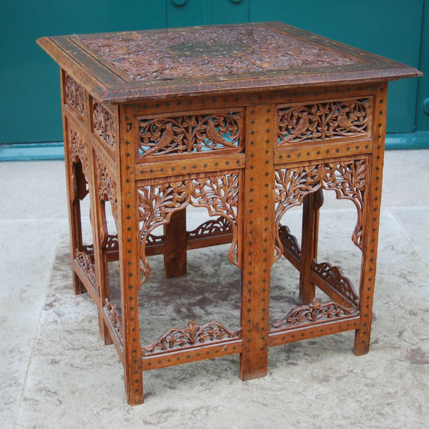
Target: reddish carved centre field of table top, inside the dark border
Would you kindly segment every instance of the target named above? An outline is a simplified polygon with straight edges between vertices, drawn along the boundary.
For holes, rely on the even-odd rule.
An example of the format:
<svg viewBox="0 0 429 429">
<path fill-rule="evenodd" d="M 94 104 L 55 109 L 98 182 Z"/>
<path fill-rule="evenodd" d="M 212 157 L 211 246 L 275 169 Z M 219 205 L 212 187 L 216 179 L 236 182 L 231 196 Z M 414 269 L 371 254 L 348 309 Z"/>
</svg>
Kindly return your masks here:
<svg viewBox="0 0 429 429">
<path fill-rule="evenodd" d="M 254 24 L 84 36 L 81 40 L 140 82 L 239 73 L 254 77 L 251 73 L 258 71 L 360 63 L 356 57 L 308 38 Z"/>
</svg>

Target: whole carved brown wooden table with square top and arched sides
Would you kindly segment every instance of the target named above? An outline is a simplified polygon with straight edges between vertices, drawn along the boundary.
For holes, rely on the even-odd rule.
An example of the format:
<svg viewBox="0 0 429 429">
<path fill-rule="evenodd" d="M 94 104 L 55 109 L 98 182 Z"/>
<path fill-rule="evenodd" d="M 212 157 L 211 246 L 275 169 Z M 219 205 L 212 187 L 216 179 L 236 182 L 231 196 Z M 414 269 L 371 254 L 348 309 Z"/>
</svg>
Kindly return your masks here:
<svg viewBox="0 0 429 429">
<path fill-rule="evenodd" d="M 352 329 L 354 353 L 368 352 L 386 82 L 418 70 L 279 22 L 37 42 L 61 68 L 74 291 L 85 288 L 97 304 L 129 404 L 143 402 L 149 369 L 240 353 L 240 377 L 249 380 L 266 375 L 268 347 Z M 339 267 L 317 261 L 322 190 L 356 206 L 359 290 Z M 91 246 L 82 245 L 80 221 L 87 193 Z M 107 201 L 117 235 L 107 230 Z M 189 204 L 213 220 L 187 232 Z M 301 204 L 300 249 L 281 219 Z M 152 235 L 160 225 L 164 235 Z M 241 326 L 191 321 L 141 347 L 137 293 L 151 272 L 147 257 L 164 254 L 165 275 L 175 277 L 186 273 L 186 248 L 222 243 L 242 270 Z M 270 268 L 282 255 L 299 270 L 302 305 L 271 320 Z M 109 302 L 114 260 L 121 314 Z M 314 298 L 316 286 L 330 301 Z"/>
</svg>

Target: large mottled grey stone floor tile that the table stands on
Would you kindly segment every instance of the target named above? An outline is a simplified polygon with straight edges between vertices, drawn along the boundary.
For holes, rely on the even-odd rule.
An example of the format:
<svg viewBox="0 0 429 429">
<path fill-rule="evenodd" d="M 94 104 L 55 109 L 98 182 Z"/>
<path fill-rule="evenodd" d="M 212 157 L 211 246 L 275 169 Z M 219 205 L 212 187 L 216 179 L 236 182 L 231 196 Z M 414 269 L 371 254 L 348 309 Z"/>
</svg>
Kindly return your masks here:
<svg viewBox="0 0 429 429">
<path fill-rule="evenodd" d="M 284 218 L 293 233 L 300 231 L 299 215 L 291 210 Z M 318 259 L 341 265 L 357 287 L 360 251 L 350 239 L 355 221 L 353 209 L 321 214 Z M 233 323 L 238 307 L 229 300 L 239 295 L 230 290 L 237 279 L 226 251 L 189 252 L 188 275 L 172 281 L 154 273 L 162 258 L 151 258 L 154 281 L 142 288 L 140 302 L 146 331 L 157 335 L 171 324 L 184 326 L 189 317 Z M 145 404 L 131 408 L 116 351 L 99 336 L 95 304 L 88 293 L 73 295 L 64 227 L 16 427 L 425 428 L 428 278 L 429 269 L 385 213 L 366 356 L 354 356 L 353 332 L 345 332 L 272 347 L 268 375 L 258 380 L 239 380 L 237 355 L 149 371 Z M 163 290 L 158 300 L 157 284 Z M 296 272 L 282 258 L 272 270 L 272 317 L 295 305 L 296 285 Z M 142 338 L 150 339 L 146 332 Z"/>
</svg>

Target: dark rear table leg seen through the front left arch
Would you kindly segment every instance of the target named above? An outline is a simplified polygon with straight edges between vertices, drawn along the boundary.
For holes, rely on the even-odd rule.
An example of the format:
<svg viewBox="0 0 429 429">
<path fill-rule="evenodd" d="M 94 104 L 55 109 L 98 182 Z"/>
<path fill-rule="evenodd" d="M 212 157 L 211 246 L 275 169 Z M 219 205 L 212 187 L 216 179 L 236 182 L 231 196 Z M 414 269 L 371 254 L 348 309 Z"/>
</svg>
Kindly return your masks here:
<svg viewBox="0 0 429 429">
<path fill-rule="evenodd" d="M 165 278 L 186 275 L 186 208 L 175 211 L 164 225 L 164 242 Z"/>
</svg>

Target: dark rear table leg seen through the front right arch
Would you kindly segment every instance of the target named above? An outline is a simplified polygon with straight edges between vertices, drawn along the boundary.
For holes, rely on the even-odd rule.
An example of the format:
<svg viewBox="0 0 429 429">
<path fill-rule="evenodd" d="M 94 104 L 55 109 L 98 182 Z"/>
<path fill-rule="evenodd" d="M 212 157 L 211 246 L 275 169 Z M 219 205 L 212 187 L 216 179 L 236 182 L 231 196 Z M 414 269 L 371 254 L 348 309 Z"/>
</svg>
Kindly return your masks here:
<svg viewBox="0 0 429 429">
<path fill-rule="evenodd" d="M 323 191 L 317 190 L 304 197 L 302 208 L 301 268 L 299 270 L 299 298 L 307 305 L 314 298 L 316 286 L 311 281 L 311 264 L 317 259 L 319 209 Z"/>
</svg>

